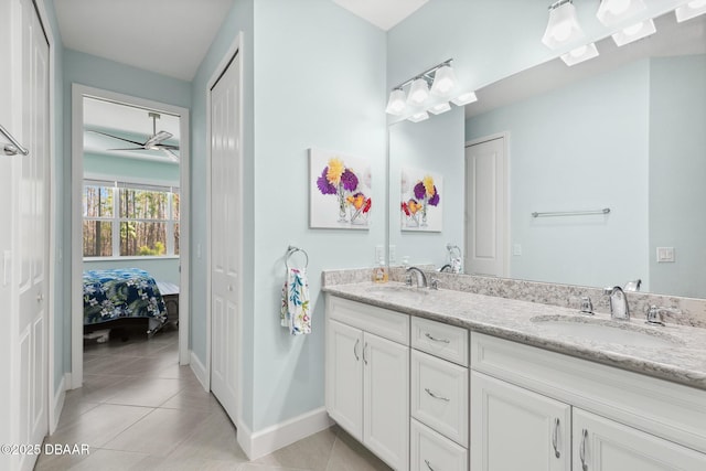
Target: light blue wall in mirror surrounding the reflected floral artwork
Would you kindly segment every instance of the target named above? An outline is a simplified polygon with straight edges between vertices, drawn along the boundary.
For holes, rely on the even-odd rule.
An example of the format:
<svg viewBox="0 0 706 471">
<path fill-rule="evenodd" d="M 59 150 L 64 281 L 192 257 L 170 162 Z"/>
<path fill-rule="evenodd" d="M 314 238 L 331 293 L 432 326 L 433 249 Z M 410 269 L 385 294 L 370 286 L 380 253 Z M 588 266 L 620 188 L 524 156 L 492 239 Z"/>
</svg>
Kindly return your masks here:
<svg viewBox="0 0 706 471">
<path fill-rule="evenodd" d="M 411 265 L 448 263 L 447 243 L 463 247 L 463 109 L 453 108 L 422 122 L 404 121 L 389 127 L 389 243 L 396 246 L 397 263 L 404 256 Z M 443 212 L 440 233 L 400 229 L 400 171 L 403 167 L 438 173 Z M 436 210 L 431 210 L 436 211 Z"/>
</svg>

